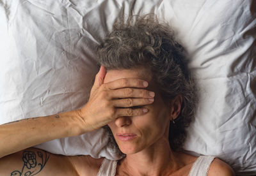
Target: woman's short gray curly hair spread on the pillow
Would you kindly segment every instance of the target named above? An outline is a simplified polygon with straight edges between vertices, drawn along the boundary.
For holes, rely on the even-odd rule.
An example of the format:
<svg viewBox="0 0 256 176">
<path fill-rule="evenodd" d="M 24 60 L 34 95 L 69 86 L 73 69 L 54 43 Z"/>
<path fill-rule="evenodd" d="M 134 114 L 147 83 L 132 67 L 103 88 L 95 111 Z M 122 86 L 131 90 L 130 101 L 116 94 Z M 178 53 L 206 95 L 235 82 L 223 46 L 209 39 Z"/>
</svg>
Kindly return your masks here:
<svg viewBox="0 0 256 176">
<path fill-rule="evenodd" d="M 149 68 L 152 80 L 166 102 L 179 94 L 182 96 L 180 114 L 175 123 L 170 122 L 169 131 L 170 147 L 181 150 L 186 138 L 185 129 L 195 114 L 196 94 L 186 52 L 175 40 L 172 29 L 159 24 L 156 15 L 131 16 L 126 22 L 114 24 L 113 31 L 97 48 L 97 54 L 99 64 L 107 70 Z M 115 143 L 118 149 L 109 128 L 108 131 L 110 143 Z"/>
</svg>

